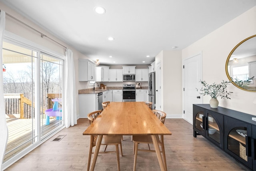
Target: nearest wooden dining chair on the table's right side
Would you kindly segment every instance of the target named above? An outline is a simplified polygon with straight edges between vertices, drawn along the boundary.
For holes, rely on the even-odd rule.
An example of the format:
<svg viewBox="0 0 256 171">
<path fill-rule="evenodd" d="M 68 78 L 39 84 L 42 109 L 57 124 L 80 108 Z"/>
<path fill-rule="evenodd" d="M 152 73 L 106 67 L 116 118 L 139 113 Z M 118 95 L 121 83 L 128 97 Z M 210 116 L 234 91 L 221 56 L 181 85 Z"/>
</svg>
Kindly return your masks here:
<svg viewBox="0 0 256 171">
<path fill-rule="evenodd" d="M 162 122 L 164 123 L 165 118 L 166 118 L 166 113 L 160 110 L 152 110 L 154 115 Z M 132 141 L 134 142 L 134 147 L 133 147 L 133 154 L 134 154 L 134 165 L 133 165 L 133 170 L 136 171 L 136 163 L 137 163 L 137 155 L 138 151 L 145 151 L 145 152 L 156 152 L 155 150 L 150 149 L 149 144 L 153 144 L 152 137 L 151 135 L 133 135 L 132 136 Z M 138 144 L 139 143 L 145 143 L 148 144 L 149 149 L 139 149 Z M 158 135 L 158 144 L 161 146 L 160 152 L 163 155 L 163 162 L 164 162 L 164 168 L 167 170 L 167 165 L 166 165 L 166 156 L 165 156 L 165 150 L 164 150 L 164 136 Z"/>
</svg>

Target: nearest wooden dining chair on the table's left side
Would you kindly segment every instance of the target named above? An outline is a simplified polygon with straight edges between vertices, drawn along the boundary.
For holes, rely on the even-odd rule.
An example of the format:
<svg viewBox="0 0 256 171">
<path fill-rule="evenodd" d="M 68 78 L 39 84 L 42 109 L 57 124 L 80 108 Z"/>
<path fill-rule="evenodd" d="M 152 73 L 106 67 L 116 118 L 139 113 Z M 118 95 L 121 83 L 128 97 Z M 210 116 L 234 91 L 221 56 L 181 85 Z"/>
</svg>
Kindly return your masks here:
<svg viewBox="0 0 256 171">
<path fill-rule="evenodd" d="M 90 125 L 93 123 L 93 121 L 95 119 L 97 119 L 97 117 L 100 116 L 101 112 L 102 112 L 102 110 L 97 110 L 97 111 L 93 111 L 87 115 Z M 90 170 L 91 157 L 92 157 L 92 154 L 94 154 L 94 152 L 92 151 L 92 148 L 94 146 L 96 146 L 97 138 L 98 138 L 98 135 L 91 135 L 87 171 Z M 120 144 L 121 157 L 123 156 L 122 143 L 121 143 L 122 140 L 121 139 L 122 139 L 122 135 L 103 135 L 100 145 L 115 145 L 116 151 L 105 151 L 106 150 L 106 148 L 105 148 L 104 151 L 99 152 L 99 154 L 100 153 L 116 153 L 118 171 L 120 171 L 118 144 Z"/>
</svg>

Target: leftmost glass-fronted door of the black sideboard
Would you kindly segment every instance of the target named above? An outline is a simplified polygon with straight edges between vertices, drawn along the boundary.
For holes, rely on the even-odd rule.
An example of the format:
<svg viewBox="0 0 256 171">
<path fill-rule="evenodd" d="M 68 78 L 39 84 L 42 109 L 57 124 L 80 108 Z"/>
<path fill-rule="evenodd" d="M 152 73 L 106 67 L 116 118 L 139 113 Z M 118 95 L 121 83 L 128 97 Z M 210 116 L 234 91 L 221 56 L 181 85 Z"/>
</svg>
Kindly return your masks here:
<svg viewBox="0 0 256 171">
<path fill-rule="evenodd" d="M 205 109 L 202 107 L 198 107 L 193 105 L 193 129 L 194 129 L 194 137 L 198 135 L 205 135 Z"/>
</svg>

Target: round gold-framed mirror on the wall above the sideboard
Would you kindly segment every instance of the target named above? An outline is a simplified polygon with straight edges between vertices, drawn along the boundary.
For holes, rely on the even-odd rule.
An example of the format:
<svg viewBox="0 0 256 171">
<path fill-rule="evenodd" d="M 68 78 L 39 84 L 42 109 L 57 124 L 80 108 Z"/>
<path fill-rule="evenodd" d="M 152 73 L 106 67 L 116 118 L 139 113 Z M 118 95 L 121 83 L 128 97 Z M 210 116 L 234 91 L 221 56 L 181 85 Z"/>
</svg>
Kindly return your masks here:
<svg viewBox="0 0 256 171">
<path fill-rule="evenodd" d="M 246 38 L 230 52 L 226 74 L 236 87 L 256 92 L 256 35 Z"/>
</svg>

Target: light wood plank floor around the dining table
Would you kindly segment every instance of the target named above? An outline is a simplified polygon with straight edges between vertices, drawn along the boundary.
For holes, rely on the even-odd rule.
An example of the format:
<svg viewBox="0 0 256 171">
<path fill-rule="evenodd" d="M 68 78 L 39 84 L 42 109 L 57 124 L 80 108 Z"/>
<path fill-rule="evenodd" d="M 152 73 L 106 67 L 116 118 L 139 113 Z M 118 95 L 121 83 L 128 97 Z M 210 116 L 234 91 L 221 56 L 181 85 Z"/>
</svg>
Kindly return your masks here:
<svg viewBox="0 0 256 171">
<path fill-rule="evenodd" d="M 87 119 L 78 119 L 77 125 L 63 129 L 6 171 L 86 171 L 90 137 L 82 133 L 88 125 Z M 166 119 L 165 125 L 172 132 L 172 135 L 164 137 L 169 171 L 248 170 L 204 137 L 194 138 L 192 125 L 185 120 Z M 58 135 L 66 136 L 59 142 L 52 142 Z M 130 136 L 124 136 L 122 147 L 124 156 L 120 157 L 120 169 L 132 171 L 134 156 Z M 109 150 L 111 148 L 108 146 Z M 156 154 L 139 151 L 136 169 L 159 171 Z M 116 154 L 99 154 L 94 170 L 117 170 Z"/>
</svg>

